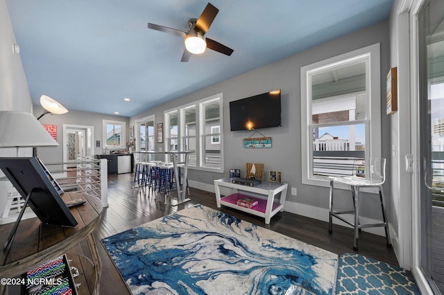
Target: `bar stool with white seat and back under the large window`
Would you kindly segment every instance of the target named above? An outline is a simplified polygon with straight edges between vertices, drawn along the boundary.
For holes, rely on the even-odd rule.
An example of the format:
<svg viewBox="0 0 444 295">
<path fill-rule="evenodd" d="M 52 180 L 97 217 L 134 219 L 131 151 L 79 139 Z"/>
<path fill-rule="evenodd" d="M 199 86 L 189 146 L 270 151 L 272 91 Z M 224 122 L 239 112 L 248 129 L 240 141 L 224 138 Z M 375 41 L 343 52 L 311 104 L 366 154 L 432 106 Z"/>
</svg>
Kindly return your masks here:
<svg viewBox="0 0 444 295">
<path fill-rule="evenodd" d="M 358 239 L 359 231 L 368 227 L 384 226 L 386 232 L 387 247 L 391 248 L 390 234 L 388 233 L 388 224 L 386 219 L 386 209 L 385 209 L 385 197 L 384 189 L 382 184 L 385 181 L 385 170 L 386 170 L 386 159 L 384 158 L 370 158 L 368 163 L 366 163 L 366 170 L 364 170 L 365 178 L 351 175 L 349 177 L 328 177 L 330 179 L 330 221 L 328 226 L 329 233 L 332 233 L 332 220 L 333 217 L 342 220 L 346 224 L 350 224 L 355 229 L 354 231 L 354 242 L 353 249 L 358 251 Z M 333 184 L 347 184 L 350 186 L 352 191 L 353 206 L 355 210 L 353 211 L 333 211 Z M 382 209 L 382 223 L 377 224 L 360 224 L 359 223 L 359 188 L 378 188 L 379 199 L 381 202 Z M 342 214 L 353 214 L 354 221 L 350 222 L 342 217 Z"/>
</svg>

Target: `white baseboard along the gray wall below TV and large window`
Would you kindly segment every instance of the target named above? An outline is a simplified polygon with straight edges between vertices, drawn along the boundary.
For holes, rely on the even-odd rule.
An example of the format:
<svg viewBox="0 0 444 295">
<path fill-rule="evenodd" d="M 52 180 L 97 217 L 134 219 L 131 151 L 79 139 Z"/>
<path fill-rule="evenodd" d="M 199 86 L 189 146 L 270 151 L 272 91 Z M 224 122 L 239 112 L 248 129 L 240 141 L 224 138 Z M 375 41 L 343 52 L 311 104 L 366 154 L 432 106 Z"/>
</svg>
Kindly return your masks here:
<svg viewBox="0 0 444 295">
<path fill-rule="evenodd" d="M 192 188 L 198 188 L 199 190 L 206 190 L 207 192 L 214 193 L 213 184 L 203 184 L 202 182 L 189 180 L 189 186 L 191 186 Z M 232 190 L 230 188 L 221 188 L 221 195 L 229 195 L 230 193 L 232 193 Z M 214 200 L 214 202 L 216 202 L 216 200 Z M 322 220 L 325 222 L 328 222 L 328 217 L 330 212 L 326 208 L 319 208 L 315 206 L 309 206 L 306 204 L 299 204 L 296 202 L 289 202 L 289 201 L 285 202 L 284 211 L 293 214 L 302 215 L 305 217 L 314 218 L 316 220 Z M 344 217 L 347 217 L 347 215 L 345 215 Z M 382 222 L 381 220 L 373 220 L 366 217 L 359 217 L 359 218 L 362 224 L 375 224 Z M 350 215 L 350 220 L 352 220 L 352 215 Z M 337 218 L 333 218 L 333 223 L 351 228 L 350 225 L 346 224 L 345 222 L 342 222 L 341 220 L 338 220 Z M 326 229 L 326 231 L 328 231 L 328 229 Z M 382 235 L 383 237 L 385 237 L 386 235 L 384 227 L 367 228 L 367 229 L 362 229 L 362 231 L 366 231 L 368 233 L 374 233 L 375 235 Z"/>
</svg>

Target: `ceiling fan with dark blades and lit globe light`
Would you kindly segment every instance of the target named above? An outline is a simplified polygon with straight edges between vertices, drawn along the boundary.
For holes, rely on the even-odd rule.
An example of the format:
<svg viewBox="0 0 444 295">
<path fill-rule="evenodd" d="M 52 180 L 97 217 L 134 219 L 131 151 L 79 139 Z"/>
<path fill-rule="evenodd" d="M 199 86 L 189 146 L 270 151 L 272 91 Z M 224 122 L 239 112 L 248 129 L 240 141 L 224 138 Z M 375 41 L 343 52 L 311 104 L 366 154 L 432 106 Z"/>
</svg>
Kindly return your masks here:
<svg viewBox="0 0 444 295">
<path fill-rule="evenodd" d="M 208 3 L 198 19 L 190 19 L 188 21 L 188 32 L 151 23 L 148 23 L 148 28 L 160 30 L 165 33 L 173 33 L 185 38 L 185 51 L 183 52 L 182 60 L 180 60 L 181 62 L 188 62 L 192 54 L 203 53 L 205 48 L 230 56 L 231 53 L 233 53 L 231 48 L 228 48 L 213 39 L 203 37 L 210 28 L 218 12 L 219 9 L 214 7 L 211 3 Z"/>
</svg>

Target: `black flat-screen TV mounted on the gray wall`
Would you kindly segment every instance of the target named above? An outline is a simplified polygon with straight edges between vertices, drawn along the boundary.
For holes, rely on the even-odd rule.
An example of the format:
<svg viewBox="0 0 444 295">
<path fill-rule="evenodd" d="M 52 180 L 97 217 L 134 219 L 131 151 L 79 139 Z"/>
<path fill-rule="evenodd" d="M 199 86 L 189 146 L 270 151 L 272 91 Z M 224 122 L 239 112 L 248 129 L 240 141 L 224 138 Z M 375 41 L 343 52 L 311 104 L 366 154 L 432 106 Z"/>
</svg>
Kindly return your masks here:
<svg viewBox="0 0 444 295">
<path fill-rule="evenodd" d="M 231 131 L 282 126 L 280 89 L 230 102 Z"/>
</svg>

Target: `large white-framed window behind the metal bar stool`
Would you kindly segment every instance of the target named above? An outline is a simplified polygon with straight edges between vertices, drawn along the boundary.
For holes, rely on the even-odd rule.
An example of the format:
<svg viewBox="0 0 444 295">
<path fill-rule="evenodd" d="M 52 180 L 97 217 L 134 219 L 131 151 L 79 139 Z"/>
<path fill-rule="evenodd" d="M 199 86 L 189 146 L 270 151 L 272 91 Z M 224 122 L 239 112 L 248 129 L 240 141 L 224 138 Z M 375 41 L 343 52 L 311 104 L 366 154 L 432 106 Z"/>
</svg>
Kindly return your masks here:
<svg viewBox="0 0 444 295">
<path fill-rule="evenodd" d="M 327 186 L 380 157 L 379 77 L 379 44 L 301 68 L 303 184 Z"/>
</svg>

